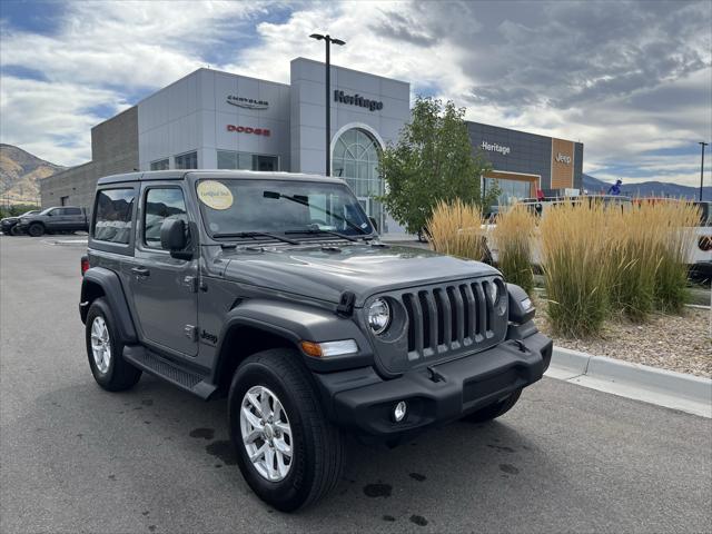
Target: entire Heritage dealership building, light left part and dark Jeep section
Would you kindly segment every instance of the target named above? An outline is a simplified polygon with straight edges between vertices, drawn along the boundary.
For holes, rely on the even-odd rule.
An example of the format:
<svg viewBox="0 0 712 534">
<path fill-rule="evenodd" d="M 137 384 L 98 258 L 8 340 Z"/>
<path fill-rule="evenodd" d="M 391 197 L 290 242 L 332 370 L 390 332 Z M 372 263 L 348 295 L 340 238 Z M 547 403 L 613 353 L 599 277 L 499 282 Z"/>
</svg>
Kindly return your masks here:
<svg viewBox="0 0 712 534">
<path fill-rule="evenodd" d="M 198 69 L 91 130 L 91 161 L 40 181 L 42 207 L 91 207 L 97 180 L 131 170 L 248 169 L 325 172 L 324 63 L 297 58 L 290 83 Z M 411 119 L 411 85 L 332 66 L 332 175 L 343 177 L 385 233 L 403 229 L 375 197 L 379 150 Z M 473 152 L 492 162 L 502 200 L 581 188 L 583 145 L 478 122 Z"/>
</svg>

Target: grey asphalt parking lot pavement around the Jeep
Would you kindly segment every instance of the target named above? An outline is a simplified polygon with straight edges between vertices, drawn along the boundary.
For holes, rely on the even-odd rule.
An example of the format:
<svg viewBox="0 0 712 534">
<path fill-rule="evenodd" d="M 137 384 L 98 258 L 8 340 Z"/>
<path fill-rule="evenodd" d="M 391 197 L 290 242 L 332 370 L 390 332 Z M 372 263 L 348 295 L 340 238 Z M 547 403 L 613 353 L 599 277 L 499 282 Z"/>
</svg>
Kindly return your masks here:
<svg viewBox="0 0 712 534">
<path fill-rule="evenodd" d="M 3 533 L 712 528 L 712 421 L 550 378 L 495 423 L 353 443 L 330 498 L 273 511 L 235 465 L 225 400 L 147 376 L 121 394 L 95 384 L 82 253 L 0 236 Z"/>
</svg>

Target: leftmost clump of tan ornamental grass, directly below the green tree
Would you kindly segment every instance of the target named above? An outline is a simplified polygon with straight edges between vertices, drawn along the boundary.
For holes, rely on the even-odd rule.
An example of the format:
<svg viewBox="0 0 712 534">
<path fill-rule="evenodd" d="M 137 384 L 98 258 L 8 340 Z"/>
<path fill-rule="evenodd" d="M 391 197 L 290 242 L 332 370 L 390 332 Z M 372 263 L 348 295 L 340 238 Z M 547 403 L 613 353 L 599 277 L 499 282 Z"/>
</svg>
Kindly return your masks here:
<svg viewBox="0 0 712 534">
<path fill-rule="evenodd" d="M 441 254 L 482 261 L 487 254 L 482 224 L 476 205 L 441 200 L 427 222 L 431 247 Z"/>
</svg>

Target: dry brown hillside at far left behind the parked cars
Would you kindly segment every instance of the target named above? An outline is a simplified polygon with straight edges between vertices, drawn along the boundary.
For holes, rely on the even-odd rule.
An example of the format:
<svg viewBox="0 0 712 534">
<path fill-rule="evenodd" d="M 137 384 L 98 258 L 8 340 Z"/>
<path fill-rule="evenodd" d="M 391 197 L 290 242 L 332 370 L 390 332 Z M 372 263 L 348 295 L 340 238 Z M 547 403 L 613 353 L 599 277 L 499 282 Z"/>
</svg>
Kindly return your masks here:
<svg viewBox="0 0 712 534">
<path fill-rule="evenodd" d="M 65 169 L 12 145 L 0 144 L 0 196 L 3 202 L 34 204 L 38 180 Z"/>
</svg>

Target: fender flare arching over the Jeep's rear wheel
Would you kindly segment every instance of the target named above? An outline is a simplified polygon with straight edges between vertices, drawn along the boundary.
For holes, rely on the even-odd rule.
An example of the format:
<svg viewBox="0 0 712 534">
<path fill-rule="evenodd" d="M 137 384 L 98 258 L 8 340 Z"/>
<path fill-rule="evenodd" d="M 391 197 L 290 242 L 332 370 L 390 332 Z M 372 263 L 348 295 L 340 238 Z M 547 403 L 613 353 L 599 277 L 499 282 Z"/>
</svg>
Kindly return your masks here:
<svg viewBox="0 0 712 534">
<path fill-rule="evenodd" d="M 93 285 L 99 286 L 103 291 L 103 296 L 111 307 L 111 312 L 113 312 L 113 317 L 117 322 L 116 326 L 119 336 L 121 336 L 121 340 L 126 344 L 137 343 L 138 336 L 136 335 L 134 319 L 129 312 L 128 303 L 126 301 L 123 288 L 121 287 L 121 280 L 116 273 L 105 269 L 103 267 L 91 267 L 85 273 L 83 279 L 81 280 L 79 313 L 82 323 L 87 318 L 91 301 L 96 298 L 92 298 Z"/>
</svg>

